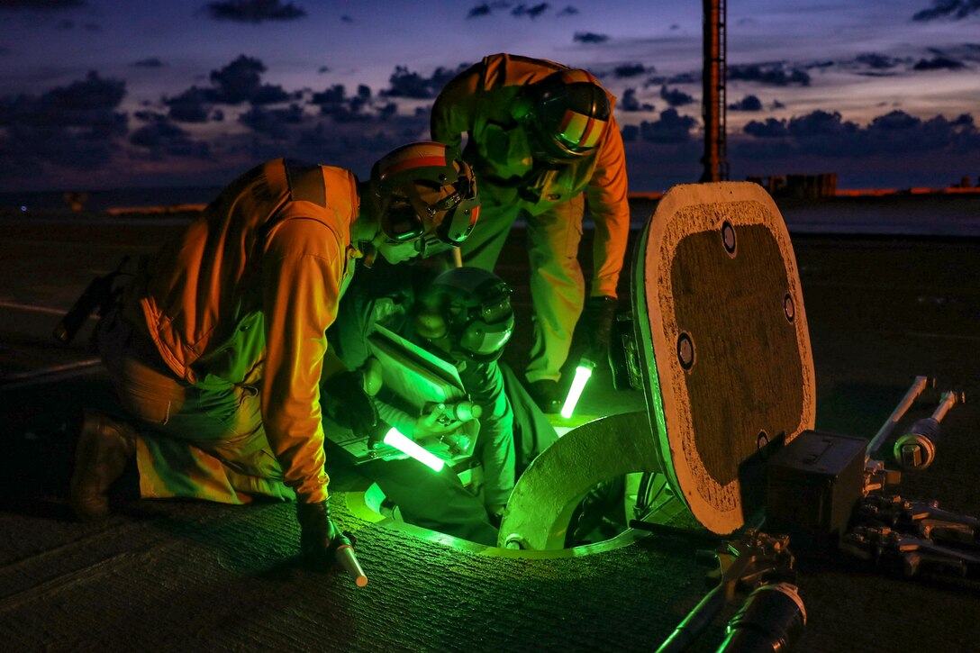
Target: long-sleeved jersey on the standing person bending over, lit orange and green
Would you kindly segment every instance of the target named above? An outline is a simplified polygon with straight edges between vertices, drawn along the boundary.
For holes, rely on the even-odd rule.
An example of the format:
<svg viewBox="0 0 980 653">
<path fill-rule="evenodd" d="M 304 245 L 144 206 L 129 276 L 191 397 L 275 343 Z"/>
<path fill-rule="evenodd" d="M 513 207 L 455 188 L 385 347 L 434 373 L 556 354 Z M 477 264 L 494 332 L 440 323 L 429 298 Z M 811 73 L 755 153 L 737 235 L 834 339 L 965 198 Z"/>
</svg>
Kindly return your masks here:
<svg viewBox="0 0 980 653">
<path fill-rule="evenodd" d="M 596 226 L 596 285 L 593 295 L 615 297 L 629 235 L 626 157 L 619 126 L 609 126 L 594 153 L 564 166 L 546 166 L 531 156 L 523 127 L 514 117 L 525 84 L 566 66 L 509 54 L 495 54 L 446 84 L 432 107 L 432 138 L 459 148 L 468 133 L 464 158 L 473 167 L 484 204 L 519 203 L 530 215 L 585 192 Z M 609 94 L 610 106 L 615 98 Z"/>
</svg>

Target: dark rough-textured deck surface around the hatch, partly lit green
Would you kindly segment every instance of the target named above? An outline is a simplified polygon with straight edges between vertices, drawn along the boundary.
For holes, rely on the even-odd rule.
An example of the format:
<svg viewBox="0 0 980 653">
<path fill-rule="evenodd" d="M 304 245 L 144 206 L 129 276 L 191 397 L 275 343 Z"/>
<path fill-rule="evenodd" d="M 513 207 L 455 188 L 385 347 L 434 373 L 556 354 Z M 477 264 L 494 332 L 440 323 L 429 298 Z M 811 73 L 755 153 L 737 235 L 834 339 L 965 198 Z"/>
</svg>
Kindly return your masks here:
<svg viewBox="0 0 980 653">
<path fill-rule="evenodd" d="M 358 538 L 364 588 L 295 566 L 288 505 L 125 500 L 105 524 L 75 523 L 66 499 L 70 418 L 82 405 L 104 405 L 107 384 L 97 367 L 33 374 L 91 359 L 84 334 L 60 348 L 52 314 L 38 309 L 67 308 L 123 249 L 153 246 L 155 228 L 64 239 L 49 225 L 0 233 L 0 633 L 9 648 L 651 650 L 703 596 L 700 540 L 652 535 L 584 556 L 492 555 L 350 512 L 344 492 L 364 479 L 343 469 L 331 488 L 338 521 Z M 513 247 L 519 261 L 519 236 Z M 870 437 L 917 375 L 965 391 L 967 402 L 944 421 L 936 464 L 907 474 L 901 489 L 980 513 L 980 410 L 970 401 L 980 397 L 970 353 L 980 243 L 794 235 L 794 247 L 817 427 Z M 526 270 L 515 264 L 505 274 L 526 310 Z M 509 359 L 527 347 L 518 333 Z M 642 396 L 602 380 L 590 384 L 580 416 L 642 409 Z M 917 405 L 909 420 L 932 407 Z M 967 581 L 911 582 L 810 558 L 799 584 L 809 623 L 798 650 L 970 650 L 980 637 L 980 589 Z M 713 651 L 730 616 L 692 650 Z"/>
</svg>

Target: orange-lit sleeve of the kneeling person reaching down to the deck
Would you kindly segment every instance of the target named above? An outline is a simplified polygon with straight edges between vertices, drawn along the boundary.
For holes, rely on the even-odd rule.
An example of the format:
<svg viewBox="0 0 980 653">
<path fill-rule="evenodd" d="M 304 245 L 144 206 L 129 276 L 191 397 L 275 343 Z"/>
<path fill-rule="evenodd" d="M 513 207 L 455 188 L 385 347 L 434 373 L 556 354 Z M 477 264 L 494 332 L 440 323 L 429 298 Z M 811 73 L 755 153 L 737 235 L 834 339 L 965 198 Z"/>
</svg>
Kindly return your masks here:
<svg viewBox="0 0 980 653">
<path fill-rule="evenodd" d="M 263 261 L 267 353 L 262 417 L 285 483 L 301 503 L 327 496 L 319 377 L 324 331 L 337 315 L 345 262 L 336 234 L 302 219 L 274 229 Z"/>
</svg>

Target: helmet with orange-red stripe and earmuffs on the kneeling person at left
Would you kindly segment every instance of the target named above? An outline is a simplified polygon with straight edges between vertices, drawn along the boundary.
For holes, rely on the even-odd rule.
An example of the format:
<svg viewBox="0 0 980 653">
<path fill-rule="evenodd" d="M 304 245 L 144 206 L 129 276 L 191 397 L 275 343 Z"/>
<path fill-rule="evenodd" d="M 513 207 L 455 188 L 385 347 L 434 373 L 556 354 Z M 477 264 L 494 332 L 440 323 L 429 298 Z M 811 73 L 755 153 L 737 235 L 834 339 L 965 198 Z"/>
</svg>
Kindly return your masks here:
<svg viewBox="0 0 980 653">
<path fill-rule="evenodd" d="M 416 241 L 422 257 L 458 246 L 479 217 L 473 172 L 442 143 L 403 145 L 378 160 L 370 177 L 385 237 Z"/>
</svg>

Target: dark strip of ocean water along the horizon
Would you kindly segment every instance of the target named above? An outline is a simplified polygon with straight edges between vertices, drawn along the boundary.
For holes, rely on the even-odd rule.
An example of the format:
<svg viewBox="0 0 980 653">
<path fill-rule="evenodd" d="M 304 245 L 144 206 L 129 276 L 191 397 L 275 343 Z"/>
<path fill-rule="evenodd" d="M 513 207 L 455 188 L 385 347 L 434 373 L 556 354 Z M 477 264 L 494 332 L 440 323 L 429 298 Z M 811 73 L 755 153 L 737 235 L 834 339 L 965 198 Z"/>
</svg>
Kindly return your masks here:
<svg viewBox="0 0 980 653">
<path fill-rule="evenodd" d="M 92 191 L 87 193 L 83 204 L 86 217 L 79 218 L 94 220 L 91 214 L 104 214 L 108 209 L 120 207 L 207 204 L 220 190 L 216 187 L 173 187 Z M 791 233 L 980 237 L 980 193 L 777 200 L 776 204 Z M 631 197 L 631 226 L 644 226 L 656 207 L 654 199 Z M 0 219 L 7 222 L 28 218 L 47 221 L 70 213 L 69 203 L 61 192 L 0 193 Z M 98 218 L 100 222 L 104 219 L 104 215 Z M 590 226 L 587 219 L 585 227 Z"/>
</svg>

